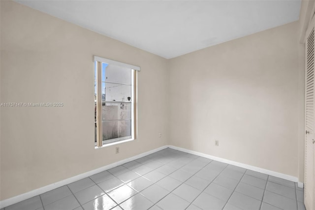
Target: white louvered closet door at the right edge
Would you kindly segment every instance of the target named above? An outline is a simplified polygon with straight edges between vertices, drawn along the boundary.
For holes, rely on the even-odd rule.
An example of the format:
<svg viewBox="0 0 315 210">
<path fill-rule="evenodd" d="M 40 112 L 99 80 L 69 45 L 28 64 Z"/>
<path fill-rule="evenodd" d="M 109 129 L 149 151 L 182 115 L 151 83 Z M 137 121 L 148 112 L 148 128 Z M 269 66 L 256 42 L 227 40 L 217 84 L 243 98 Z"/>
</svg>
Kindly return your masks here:
<svg viewBox="0 0 315 210">
<path fill-rule="evenodd" d="M 305 174 L 304 204 L 307 210 L 314 210 L 314 19 L 306 34 L 305 68 Z"/>
</svg>

